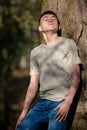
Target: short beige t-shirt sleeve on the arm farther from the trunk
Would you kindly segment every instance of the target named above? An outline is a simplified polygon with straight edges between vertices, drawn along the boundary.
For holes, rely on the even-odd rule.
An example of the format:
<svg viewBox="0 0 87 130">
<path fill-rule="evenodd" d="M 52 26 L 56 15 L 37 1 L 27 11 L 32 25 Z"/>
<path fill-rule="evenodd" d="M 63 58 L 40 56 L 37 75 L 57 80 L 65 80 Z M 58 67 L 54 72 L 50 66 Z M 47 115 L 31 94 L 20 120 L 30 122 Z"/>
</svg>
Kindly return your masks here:
<svg viewBox="0 0 87 130">
<path fill-rule="evenodd" d="M 31 52 L 30 54 L 30 75 L 39 74 L 39 65 L 37 58 Z"/>
</svg>

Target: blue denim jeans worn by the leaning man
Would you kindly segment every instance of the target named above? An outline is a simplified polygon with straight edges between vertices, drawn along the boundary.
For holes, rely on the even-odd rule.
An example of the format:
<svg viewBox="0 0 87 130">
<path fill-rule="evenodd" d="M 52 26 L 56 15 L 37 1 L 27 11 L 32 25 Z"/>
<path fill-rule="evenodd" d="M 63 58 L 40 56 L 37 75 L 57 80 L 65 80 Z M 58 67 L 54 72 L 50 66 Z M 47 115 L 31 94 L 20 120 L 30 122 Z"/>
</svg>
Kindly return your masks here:
<svg viewBox="0 0 87 130">
<path fill-rule="evenodd" d="M 63 102 L 40 99 L 28 112 L 16 130 L 66 130 L 67 120 L 55 120 L 54 108 Z"/>
</svg>

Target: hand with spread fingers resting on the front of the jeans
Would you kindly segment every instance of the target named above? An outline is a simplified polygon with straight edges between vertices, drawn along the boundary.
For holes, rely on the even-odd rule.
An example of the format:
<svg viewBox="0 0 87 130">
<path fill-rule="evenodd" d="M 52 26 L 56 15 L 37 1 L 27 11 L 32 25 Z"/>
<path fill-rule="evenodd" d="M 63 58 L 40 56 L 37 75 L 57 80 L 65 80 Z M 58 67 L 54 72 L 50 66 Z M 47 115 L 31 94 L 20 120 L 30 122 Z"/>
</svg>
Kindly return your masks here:
<svg viewBox="0 0 87 130">
<path fill-rule="evenodd" d="M 54 110 L 58 110 L 57 114 L 55 115 L 56 121 L 65 121 L 70 109 L 70 104 L 66 101 L 63 101 L 59 104 Z"/>
</svg>

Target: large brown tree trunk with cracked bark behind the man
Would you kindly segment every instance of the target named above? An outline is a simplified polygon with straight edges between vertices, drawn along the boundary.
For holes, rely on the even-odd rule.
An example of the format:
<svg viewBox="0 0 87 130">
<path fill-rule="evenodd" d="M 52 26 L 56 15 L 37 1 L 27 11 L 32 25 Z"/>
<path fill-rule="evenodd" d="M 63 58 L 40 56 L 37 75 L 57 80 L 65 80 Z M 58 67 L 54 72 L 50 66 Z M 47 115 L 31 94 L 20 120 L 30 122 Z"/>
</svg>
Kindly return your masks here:
<svg viewBox="0 0 87 130">
<path fill-rule="evenodd" d="M 83 66 L 83 91 L 74 124 L 80 127 L 81 120 L 77 121 L 77 117 L 79 118 L 82 115 L 85 118 L 85 114 L 87 113 L 87 0 L 43 0 L 42 12 L 45 10 L 53 10 L 57 13 L 62 27 L 62 36 L 74 39 L 78 45 Z M 85 123 L 83 118 L 82 120 Z M 86 124 L 83 124 L 84 130 L 86 126 Z"/>
</svg>

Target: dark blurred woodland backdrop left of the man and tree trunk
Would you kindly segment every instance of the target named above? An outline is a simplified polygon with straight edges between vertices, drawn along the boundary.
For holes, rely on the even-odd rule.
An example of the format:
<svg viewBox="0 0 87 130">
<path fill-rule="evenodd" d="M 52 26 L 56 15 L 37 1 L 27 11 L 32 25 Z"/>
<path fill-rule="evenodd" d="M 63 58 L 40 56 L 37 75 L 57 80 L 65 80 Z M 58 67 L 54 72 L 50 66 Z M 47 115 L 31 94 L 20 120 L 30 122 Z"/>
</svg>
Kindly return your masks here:
<svg viewBox="0 0 87 130">
<path fill-rule="evenodd" d="M 20 111 L 21 97 L 27 89 L 29 53 L 39 44 L 40 10 L 41 0 L 0 1 L 0 129 L 3 130 L 14 129 L 17 119 L 14 113 L 18 107 Z"/>
</svg>

